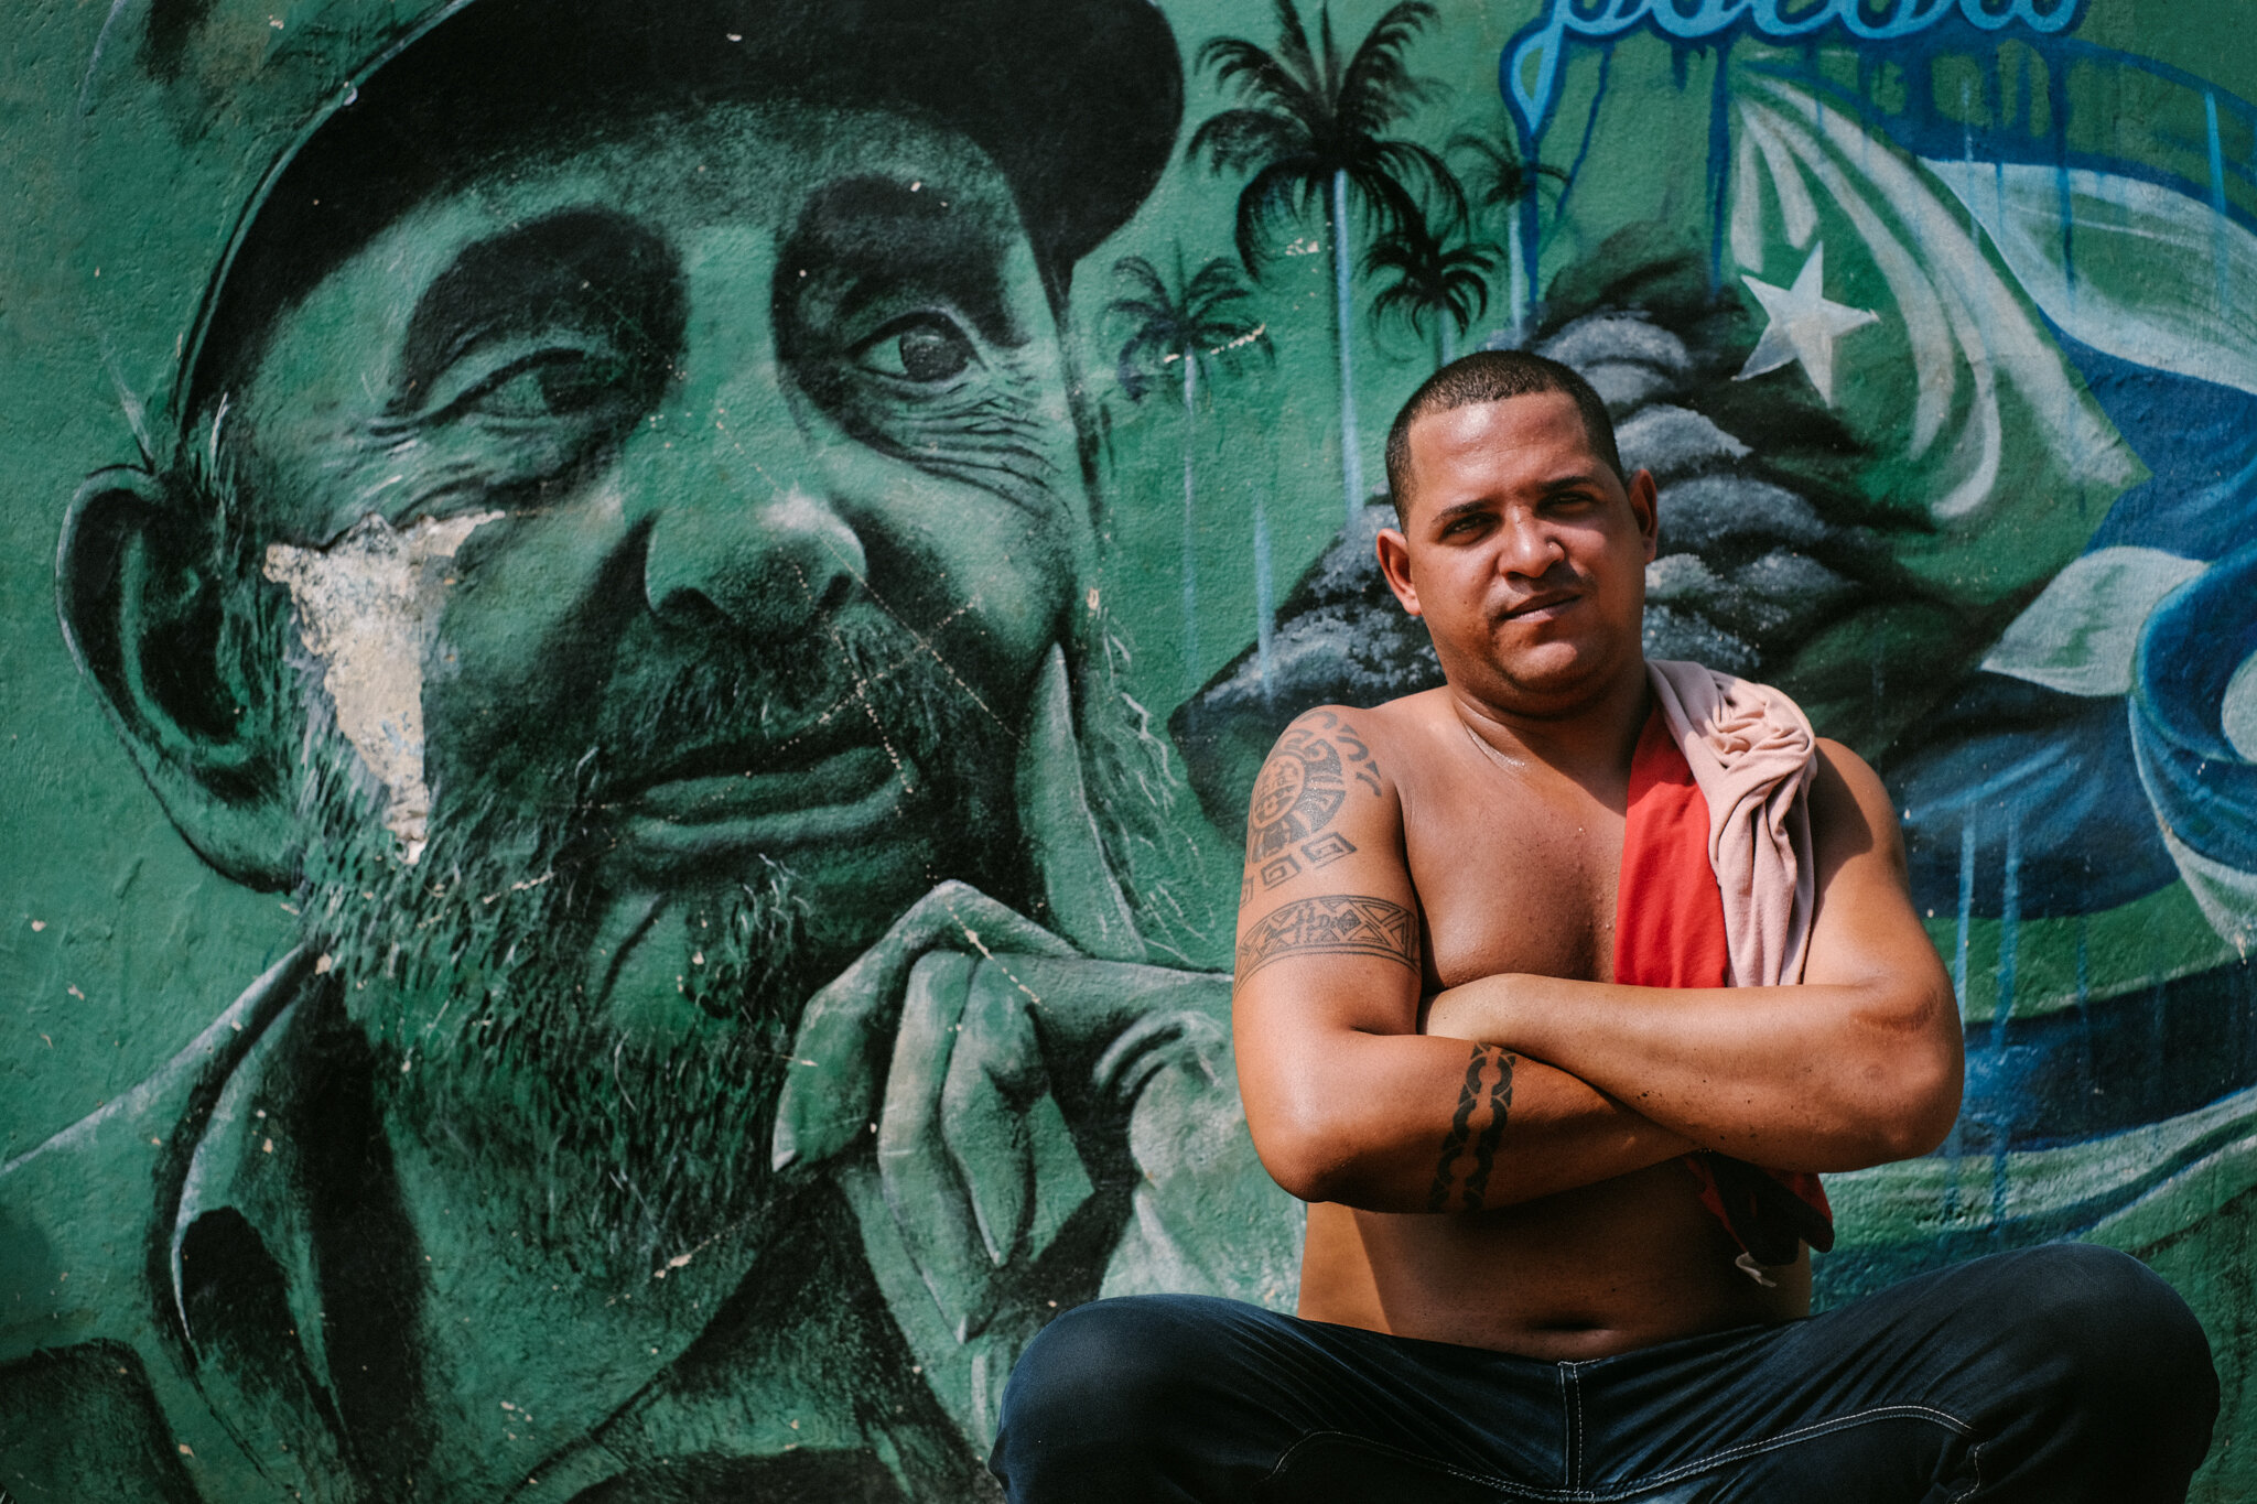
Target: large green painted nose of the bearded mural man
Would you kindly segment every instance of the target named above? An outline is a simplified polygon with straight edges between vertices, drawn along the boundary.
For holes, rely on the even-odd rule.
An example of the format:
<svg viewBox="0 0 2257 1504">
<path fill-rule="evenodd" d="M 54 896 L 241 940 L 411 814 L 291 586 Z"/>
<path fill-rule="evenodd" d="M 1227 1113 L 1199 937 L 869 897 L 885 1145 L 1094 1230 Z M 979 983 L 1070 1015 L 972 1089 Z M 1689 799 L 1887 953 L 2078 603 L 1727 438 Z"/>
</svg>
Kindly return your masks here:
<svg viewBox="0 0 2257 1504">
<path fill-rule="evenodd" d="M 862 539 L 781 413 L 758 435 L 727 422 L 639 435 L 630 483 L 646 512 L 643 598 L 668 625 L 788 638 L 835 611 L 869 573 Z M 702 428 L 702 433 L 697 431 Z M 776 431 L 781 428 L 781 433 Z M 641 460 L 639 465 L 634 460 Z"/>
</svg>

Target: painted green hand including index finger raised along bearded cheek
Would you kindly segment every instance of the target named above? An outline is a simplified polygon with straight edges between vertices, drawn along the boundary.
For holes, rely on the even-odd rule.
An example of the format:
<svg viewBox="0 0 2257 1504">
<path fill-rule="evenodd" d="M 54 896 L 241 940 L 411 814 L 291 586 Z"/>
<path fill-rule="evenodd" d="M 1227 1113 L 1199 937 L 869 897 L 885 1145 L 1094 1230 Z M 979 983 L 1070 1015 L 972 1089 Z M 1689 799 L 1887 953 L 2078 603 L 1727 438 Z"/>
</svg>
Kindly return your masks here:
<svg viewBox="0 0 2257 1504">
<path fill-rule="evenodd" d="M 937 886 L 808 1001 L 774 1141 L 776 1168 L 822 1166 L 846 1195 L 925 1382 L 982 1448 L 1018 1351 L 1095 1292 L 1099 1247 L 1045 1256 L 1095 1195 L 1090 1123 L 1124 1139 L 1108 1044 L 1147 1033 L 1144 1001 L 1178 976 L 1119 963 L 1142 943 L 1081 789 L 1056 652 L 1029 722 L 1020 823 L 1063 936 Z"/>
</svg>

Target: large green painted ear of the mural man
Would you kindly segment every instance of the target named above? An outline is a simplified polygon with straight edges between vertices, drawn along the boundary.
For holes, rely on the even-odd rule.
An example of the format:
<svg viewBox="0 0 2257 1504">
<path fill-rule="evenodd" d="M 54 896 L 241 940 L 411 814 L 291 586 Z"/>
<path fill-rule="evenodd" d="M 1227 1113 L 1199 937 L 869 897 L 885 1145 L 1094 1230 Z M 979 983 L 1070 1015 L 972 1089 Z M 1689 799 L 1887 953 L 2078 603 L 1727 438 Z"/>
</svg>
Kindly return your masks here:
<svg viewBox="0 0 2257 1504">
<path fill-rule="evenodd" d="M 217 521 L 140 469 L 106 469 L 70 501 L 54 564 L 63 636 L 142 778 L 196 852 L 282 888 L 298 873 L 300 719 L 284 695 L 280 616 L 262 616 Z"/>
</svg>

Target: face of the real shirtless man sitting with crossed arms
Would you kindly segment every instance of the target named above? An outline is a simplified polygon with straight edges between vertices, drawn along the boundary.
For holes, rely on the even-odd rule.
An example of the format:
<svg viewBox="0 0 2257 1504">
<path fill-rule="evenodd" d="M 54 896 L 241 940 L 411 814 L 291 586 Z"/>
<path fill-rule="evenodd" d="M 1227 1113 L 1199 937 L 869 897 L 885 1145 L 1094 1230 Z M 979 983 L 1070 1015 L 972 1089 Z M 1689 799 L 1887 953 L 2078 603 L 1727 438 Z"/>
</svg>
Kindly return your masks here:
<svg viewBox="0 0 2257 1504">
<path fill-rule="evenodd" d="M 1639 663 L 1652 480 L 1625 487 L 1564 392 L 1420 417 L 1408 516 L 1381 539 L 1442 670 L 1485 704 L 1562 713 Z"/>
</svg>

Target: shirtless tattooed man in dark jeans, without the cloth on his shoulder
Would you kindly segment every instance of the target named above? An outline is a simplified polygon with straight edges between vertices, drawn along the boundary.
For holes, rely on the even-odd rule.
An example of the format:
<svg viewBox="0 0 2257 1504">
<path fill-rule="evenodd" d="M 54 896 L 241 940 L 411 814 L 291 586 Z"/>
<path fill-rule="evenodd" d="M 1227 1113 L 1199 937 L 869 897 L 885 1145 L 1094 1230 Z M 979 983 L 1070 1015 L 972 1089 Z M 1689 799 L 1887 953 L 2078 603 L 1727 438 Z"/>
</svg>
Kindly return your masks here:
<svg viewBox="0 0 2257 1504">
<path fill-rule="evenodd" d="M 2135 1260 L 2025 1249 L 1810 1317 L 1808 1251 L 1756 1260 L 1704 1204 L 1697 1150 L 1806 1193 L 1934 1150 L 1959 1019 L 1835 742 L 1799 985 L 1616 979 L 1657 496 L 1598 397 L 1469 356 L 1388 480 L 1381 566 L 1447 685 L 1305 715 L 1248 821 L 1237 1067 L 1309 1202 L 1300 1315 L 1068 1312 L 1004 1396 L 1011 1499 L 2185 1497 L 2216 1380 Z"/>
</svg>

